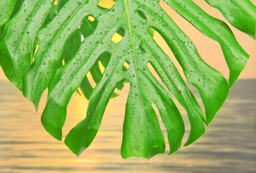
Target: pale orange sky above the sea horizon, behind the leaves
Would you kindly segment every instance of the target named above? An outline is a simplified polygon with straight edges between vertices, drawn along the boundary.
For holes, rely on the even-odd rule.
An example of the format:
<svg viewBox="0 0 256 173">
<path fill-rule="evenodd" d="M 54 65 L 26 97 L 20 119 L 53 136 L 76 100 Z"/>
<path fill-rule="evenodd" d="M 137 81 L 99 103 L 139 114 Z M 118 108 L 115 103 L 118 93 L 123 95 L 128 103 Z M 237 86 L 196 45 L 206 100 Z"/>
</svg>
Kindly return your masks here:
<svg viewBox="0 0 256 173">
<path fill-rule="evenodd" d="M 246 34 L 240 32 L 238 29 L 231 26 L 217 9 L 214 9 L 211 6 L 209 6 L 204 0 L 193 1 L 197 3 L 202 9 L 204 9 L 204 11 L 206 11 L 208 14 L 223 20 L 230 26 L 238 42 L 241 44 L 244 50 L 250 55 L 250 60 L 248 61 L 244 71 L 241 73 L 240 78 L 256 78 L 256 41 L 253 40 L 253 38 L 247 36 Z M 256 4 L 256 0 L 251 1 L 254 4 Z M 172 17 L 175 23 L 177 23 L 177 25 L 186 33 L 186 35 L 188 35 L 190 39 L 195 43 L 195 46 L 197 47 L 198 52 L 204 59 L 204 61 L 206 61 L 209 65 L 213 66 L 215 69 L 220 71 L 226 78 L 228 78 L 229 70 L 227 68 L 224 56 L 221 51 L 221 47 L 219 46 L 218 42 L 201 34 L 201 32 L 199 32 L 185 19 L 183 19 L 183 17 L 180 17 L 180 15 L 177 14 L 172 8 L 164 4 L 163 1 L 161 1 L 161 6 Z M 156 35 L 155 39 L 161 40 L 161 37 L 159 35 Z M 175 65 L 180 70 L 181 67 L 175 60 L 175 57 L 168 48 L 168 46 L 161 42 L 160 46 L 167 53 L 167 55 L 169 55 L 169 57 L 172 58 Z M 3 70 L 0 68 L 0 79 L 3 78 L 6 77 L 3 74 Z"/>
</svg>

